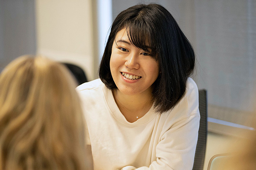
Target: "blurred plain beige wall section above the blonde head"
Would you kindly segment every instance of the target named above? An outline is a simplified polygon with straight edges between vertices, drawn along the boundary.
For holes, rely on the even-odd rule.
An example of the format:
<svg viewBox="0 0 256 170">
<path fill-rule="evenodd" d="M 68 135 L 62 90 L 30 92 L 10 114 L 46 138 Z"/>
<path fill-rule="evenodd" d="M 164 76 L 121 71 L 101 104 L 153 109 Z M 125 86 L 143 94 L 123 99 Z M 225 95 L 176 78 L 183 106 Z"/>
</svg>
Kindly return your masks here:
<svg viewBox="0 0 256 170">
<path fill-rule="evenodd" d="M 91 0 L 36 0 L 37 53 L 75 63 L 96 78 Z"/>
</svg>

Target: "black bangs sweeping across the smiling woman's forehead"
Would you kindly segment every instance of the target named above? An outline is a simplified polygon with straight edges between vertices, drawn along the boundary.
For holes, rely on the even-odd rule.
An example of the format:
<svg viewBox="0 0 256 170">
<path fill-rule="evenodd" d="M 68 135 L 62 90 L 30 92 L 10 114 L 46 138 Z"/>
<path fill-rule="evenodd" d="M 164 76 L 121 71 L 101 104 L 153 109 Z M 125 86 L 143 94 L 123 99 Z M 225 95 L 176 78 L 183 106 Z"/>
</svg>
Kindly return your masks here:
<svg viewBox="0 0 256 170">
<path fill-rule="evenodd" d="M 150 52 L 151 56 L 157 60 L 157 39 L 152 29 L 146 23 L 141 23 L 139 20 L 128 23 L 125 27 L 131 44 Z"/>
</svg>

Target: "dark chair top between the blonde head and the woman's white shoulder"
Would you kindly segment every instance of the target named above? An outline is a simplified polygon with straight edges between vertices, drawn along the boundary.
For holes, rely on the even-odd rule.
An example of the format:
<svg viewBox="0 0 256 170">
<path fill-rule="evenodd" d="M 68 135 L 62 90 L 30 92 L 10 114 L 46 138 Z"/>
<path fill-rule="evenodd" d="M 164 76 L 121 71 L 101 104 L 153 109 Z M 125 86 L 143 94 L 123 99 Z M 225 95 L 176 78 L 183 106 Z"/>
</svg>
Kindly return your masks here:
<svg viewBox="0 0 256 170">
<path fill-rule="evenodd" d="M 77 65 L 70 64 L 70 63 L 62 62 L 62 64 L 64 64 L 71 71 L 71 73 L 76 78 L 76 80 L 78 82 L 78 85 L 81 85 L 84 82 L 88 82 L 87 77 L 86 77 L 86 75 L 84 73 L 84 70 L 82 68 L 80 68 Z"/>
</svg>

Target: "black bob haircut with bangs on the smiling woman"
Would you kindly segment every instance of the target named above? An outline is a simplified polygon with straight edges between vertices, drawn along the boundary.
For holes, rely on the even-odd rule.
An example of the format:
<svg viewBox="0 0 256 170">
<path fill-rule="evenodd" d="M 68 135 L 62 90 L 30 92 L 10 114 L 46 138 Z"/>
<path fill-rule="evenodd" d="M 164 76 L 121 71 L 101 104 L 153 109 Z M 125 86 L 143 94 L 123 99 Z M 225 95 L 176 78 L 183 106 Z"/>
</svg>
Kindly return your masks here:
<svg viewBox="0 0 256 170">
<path fill-rule="evenodd" d="M 172 14 L 161 5 L 151 3 L 122 11 L 111 26 L 111 32 L 99 67 L 99 77 L 109 89 L 115 89 L 110 58 L 116 33 L 127 29 L 131 43 L 143 50 L 147 43 L 159 62 L 160 74 L 153 84 L 154 108 L 158 113 L 172 109 L 186 91 L 186 80 L 195 66 L 195 54 L 189 40 Z"/>
</svg>

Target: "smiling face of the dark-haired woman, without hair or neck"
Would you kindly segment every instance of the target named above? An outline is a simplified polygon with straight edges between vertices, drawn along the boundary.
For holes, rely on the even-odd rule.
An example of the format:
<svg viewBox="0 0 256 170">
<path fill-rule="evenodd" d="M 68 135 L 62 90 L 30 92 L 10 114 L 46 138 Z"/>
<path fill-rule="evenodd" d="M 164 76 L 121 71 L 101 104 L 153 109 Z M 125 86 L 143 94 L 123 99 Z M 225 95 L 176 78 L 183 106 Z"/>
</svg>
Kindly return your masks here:
<svg viewBox="0 0 256 170">
<path fill-rule="evenodd" d="M 151 57 L 150 48 L 145 51 L 132 45 L 123 28 L 117 32 L 112 45 L 110 70 L 123 94 L 151 94 L 151 85 L 159 74 L 159 63 Z"/>
</svg>

